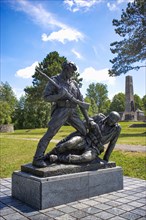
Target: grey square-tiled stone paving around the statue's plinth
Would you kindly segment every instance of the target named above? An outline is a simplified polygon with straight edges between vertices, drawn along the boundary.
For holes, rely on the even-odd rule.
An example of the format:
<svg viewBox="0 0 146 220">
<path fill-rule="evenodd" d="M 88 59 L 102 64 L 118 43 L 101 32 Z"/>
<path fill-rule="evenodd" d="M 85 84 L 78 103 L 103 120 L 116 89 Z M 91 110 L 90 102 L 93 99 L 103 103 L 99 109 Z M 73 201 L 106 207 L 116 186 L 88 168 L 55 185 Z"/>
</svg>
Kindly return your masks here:
<svg viewBox="0 0 146 220">
<path fill-rule="evenodd" d="M 124 177 L 124 189 L 36 210 L 11 197 L 11 178 L 0 179 L 0 220 L 146 220 L 146 181 Z"/>
</svg>

